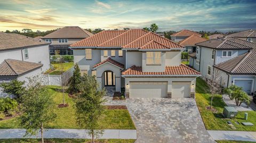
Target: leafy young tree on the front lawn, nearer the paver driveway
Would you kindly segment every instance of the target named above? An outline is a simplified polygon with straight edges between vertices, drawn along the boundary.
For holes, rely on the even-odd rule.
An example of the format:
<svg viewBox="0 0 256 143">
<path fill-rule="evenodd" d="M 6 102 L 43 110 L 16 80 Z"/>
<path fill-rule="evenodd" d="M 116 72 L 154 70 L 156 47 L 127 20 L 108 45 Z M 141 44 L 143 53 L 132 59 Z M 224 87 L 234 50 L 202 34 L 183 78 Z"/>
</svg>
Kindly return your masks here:
<svg viewBox="0 0 256 143">
<path fill-rule="evenodd" d="M 103 133 L 103 130 L 99 130 L 98 122 L 104 111 L 103 96 L 106 95 L 106 91 L 99 90 L 97 80 L 90 75 L 84 75 L 79 86 L 81 94 L 78 95 L 75 104 L 77 124 L 81 128 L 88 129 L 94 143 L 94 137 L 99 137 Z"/>
</svg>

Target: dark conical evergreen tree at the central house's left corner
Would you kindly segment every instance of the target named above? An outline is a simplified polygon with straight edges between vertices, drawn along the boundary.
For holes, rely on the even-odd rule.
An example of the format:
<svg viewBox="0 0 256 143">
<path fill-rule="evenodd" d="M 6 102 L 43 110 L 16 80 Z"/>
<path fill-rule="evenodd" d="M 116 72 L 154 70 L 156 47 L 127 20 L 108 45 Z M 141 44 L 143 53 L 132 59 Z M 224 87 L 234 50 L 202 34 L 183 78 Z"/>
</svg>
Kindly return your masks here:
<svg viewBox="0 0 256 143">
<path fill-rule="evenodd" d="M 71 77 L 69 91 L 73 93 L 79 92 L 79 84 L 81 83 L 81 70 L 79 69 L 78 64 L 74 66 L 73 77 Z"/>
</svg>

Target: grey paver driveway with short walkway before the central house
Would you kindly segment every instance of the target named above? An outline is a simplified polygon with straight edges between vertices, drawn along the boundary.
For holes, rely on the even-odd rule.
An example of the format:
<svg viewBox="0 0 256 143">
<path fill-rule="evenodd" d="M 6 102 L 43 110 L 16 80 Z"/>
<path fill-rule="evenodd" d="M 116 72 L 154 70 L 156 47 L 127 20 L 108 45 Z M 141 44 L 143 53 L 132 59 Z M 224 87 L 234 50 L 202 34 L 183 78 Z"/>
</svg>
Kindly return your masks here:
<svg viewBox="0 0 256 143">
<path fill-rule="evenodd" d="M 127 106 L 137 128 L 137 143 L 215 142 L 204 127 L 194 99 L 106 98 L 106 105 Z"/>
</svg>

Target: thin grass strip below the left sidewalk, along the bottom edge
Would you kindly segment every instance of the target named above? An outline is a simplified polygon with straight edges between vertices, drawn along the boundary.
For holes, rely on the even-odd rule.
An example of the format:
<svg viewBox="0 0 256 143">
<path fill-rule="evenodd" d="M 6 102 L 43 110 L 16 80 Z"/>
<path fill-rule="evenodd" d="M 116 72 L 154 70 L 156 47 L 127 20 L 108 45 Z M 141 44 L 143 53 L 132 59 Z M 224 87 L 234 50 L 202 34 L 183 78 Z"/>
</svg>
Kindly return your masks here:
<svg viewBox="0 0 256 143">
<path fill-rule="evenodd" d="M 37 143 L 41 141 L 41 139 L 0 139 L 2 143 L 23 143 L 23 142 L 33 142 Z M 78 142 L 88 142 L 91 141 L 89 139 L 44 139 L 45 142 L 51 143 L 78 143 Z M 100 139 L 100 142 L 106 143 L 133 143 L 135 140 L 133 139 Z"/>
</svg>

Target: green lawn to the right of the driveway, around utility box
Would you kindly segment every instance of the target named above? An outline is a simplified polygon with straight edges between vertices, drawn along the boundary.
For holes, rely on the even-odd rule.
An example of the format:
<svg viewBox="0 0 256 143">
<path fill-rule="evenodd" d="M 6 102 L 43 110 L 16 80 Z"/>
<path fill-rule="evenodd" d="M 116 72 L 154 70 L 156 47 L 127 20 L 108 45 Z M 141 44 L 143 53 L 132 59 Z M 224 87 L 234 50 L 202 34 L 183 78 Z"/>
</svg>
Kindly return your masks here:
<svg viewBox="0 0 256 143">
<path fill-rule="evenodd" d="M 196 79 L 196 103 L 199 108 L 199 112 L 203 118 L 205 127 L 207 130 L 235 130 L 235 131 L 256 131 L 256 112 L 246 111 L 248 113 L 248 120 L 244 120 L 245 112 L 238 112 L 238 115 L 234 119 L 224 119 L 221 115 L 223 107 L 226 104 L 223 102 L 221 95 L 214 96 L 213 107 L 218 110 L 217 113 L 213 113 L 206 110 L 206 106 L 210 106 L 211 95 L 205 93 L 205 88 L 207 88 L 205 81 L 201 78 Z M 227 124 L 227 121 L 231 121 L 235 128 L 231 128 Z M 236 124 L 238 121 L 240 124 Z M 251 122 L 254 126 L 247 126 L 241 124 L 241 122 Z"/>
</svg>

